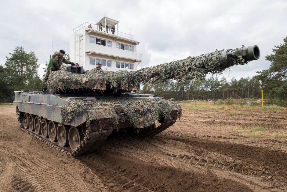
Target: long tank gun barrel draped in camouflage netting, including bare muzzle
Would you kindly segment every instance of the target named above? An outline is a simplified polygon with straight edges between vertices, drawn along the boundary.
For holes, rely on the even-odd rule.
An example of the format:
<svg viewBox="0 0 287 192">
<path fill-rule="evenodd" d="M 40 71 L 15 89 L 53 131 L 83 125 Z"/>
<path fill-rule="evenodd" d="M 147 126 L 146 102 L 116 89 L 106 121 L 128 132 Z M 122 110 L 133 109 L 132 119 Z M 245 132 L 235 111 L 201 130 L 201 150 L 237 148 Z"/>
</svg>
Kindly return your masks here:
<svg viewBox="0 0 287 192">
<path fill-rule="evenodd" d="M 140 83 L 151 88 L 158 82 L 164 82 L 169 79 L 185 81 L 203 78 L 208 73 L 220 73 L 228 67 L 244 65 L 259 57 L 260 50 L 257 45 L 221 51 L 216 50 L 212 53 L 196 57 L 189 56 L 182 60 L 132 72 L 117 71 L 107 76 L 107 83 L 111 85 L 111 88 L 114 88 L 114 92 L 118 89 L 138 92 L 140 91 Z"/>
</svg>

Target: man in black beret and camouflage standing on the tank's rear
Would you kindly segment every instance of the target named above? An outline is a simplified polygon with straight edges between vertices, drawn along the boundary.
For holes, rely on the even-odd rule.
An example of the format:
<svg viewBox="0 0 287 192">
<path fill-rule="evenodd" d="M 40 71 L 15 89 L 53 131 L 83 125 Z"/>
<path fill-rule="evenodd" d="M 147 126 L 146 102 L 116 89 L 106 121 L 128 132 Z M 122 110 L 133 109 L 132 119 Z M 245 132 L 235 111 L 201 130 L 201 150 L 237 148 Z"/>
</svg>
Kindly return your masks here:
<svg viewBox="0 0 287 192">
<path fill-rule="evenodd" d="M 49 77 L 50 73 L 52 71 L 60 70 L 60 67 L 61 67 L 62 63 L 71 64 L 71 65 L 74 65 L 74 66 L 79 66 L 78 63 L 67 61 L 64 58 L 64 55 L 65 55 L 65 51 L 64 50 L 60 50 L 59 52 L 56 51 L 52 55 L 52 64 L 53 65 L 47 69 L 46 75 L 45 75 L 45 77 L 43 79 L 42 91 L 41 91 L 42 94 L 47 94 L 47 80 L 48 80 L 48 77 Z"/>
</svg>

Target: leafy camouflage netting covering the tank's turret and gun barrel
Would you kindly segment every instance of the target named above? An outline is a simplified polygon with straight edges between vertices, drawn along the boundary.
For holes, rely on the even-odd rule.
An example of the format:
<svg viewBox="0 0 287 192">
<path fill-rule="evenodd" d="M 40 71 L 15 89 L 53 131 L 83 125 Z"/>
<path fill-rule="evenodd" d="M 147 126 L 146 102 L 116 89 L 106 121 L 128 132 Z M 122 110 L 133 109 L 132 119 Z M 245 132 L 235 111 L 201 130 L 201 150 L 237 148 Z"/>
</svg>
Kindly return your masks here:
<svg viewBox="0 0 287 192">
<path fill-rule="evenodd" d="M 225 51 L 235 51 L 225 50 Z M 120 70 L 117 72 L 102 71 L 96 69 L 86 71 L 85 74 L 74 74 L 64 70 L 52 72 L 48 79 L 48 89 L 51 92 L 57 90 L 71 90 L 79 88 L 106 89 L 105 83 L 116 93 L 118 90 L 140 91 L 140 83 L 152 87 L 155 83 L 169 79 L 185 81 L 203 78 L 208 73 L 220 73 L 229 66 L 244 65 L 245 61 L 240 56 L 237 59 L 230 58 L 229 66 L 220 62 L 223 50 L 215 51 L 196 57 L 187 57 L 182 60 L 147 67 L 136 71 Z M 105 77 L 101 74 L 104 73 Z"/>
</svg>

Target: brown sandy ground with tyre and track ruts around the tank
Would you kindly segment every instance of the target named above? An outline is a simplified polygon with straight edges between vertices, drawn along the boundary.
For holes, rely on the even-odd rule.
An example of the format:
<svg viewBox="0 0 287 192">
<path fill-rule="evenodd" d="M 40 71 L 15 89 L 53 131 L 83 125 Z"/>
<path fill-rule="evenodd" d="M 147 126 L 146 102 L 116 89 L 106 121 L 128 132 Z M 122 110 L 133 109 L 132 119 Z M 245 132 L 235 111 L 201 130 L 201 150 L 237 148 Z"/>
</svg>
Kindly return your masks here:
<svg viewBox="0 0 287 192">
<path fill-rule="evenodd" d="M 121 132 L 78 158 L 21 131 L 15 107 L 1 106 L 0 190 L 287 190 L 287 109 L 181 106 L 181 120 L 161 134 L 144 140 Z"/>
</svg>

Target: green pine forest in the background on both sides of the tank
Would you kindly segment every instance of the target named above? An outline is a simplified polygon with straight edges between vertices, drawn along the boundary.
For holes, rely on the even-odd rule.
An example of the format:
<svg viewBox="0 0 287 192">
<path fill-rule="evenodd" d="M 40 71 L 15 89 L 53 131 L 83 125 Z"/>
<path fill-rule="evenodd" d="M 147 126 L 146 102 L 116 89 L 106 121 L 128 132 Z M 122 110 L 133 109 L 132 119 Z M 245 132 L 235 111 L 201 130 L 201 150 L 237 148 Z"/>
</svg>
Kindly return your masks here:
<svg viewBox="0 0 287 192">
<path fill-rule="evenodd" d="M 42 88 L 35 53 L 27 53 L 23 47 L 16 47 L 13 51 L 9 57 L 6 56 L 5 64 L 0 65 L 0 103 L 13 102 L 13 91 L 39 91 Z M 287 37 L 282 44 L 274 46 L 273 54 L 267 55 L 265 59 L 271 62 L 270 68 L 257 71 L 253 77 L 239 80 L 233 77 L 230 81 L 224 77 L 218 79 L 217 76 L 184 82 L 169 80 L 159 82 L 152 88 L 143 86 L 141 93 L 165 99 L 215 101 L 227 98 L 259 99 L 263 89 L 265 98 L 287 100 Z"/>
</svg>

